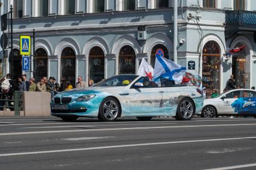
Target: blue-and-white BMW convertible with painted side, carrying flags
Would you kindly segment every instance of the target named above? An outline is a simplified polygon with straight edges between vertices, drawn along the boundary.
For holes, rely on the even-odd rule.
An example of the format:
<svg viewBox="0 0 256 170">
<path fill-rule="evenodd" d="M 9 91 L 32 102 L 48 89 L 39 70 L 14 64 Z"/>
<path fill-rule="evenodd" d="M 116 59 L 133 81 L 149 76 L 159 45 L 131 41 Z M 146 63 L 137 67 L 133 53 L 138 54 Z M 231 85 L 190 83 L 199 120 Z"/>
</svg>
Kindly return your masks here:
<svg viewBox="0 0 256 170">
<path fill-rule="evenodd" d="M 51 101 L 51 115 L 64 121 L 78 117 L 95 117 L 114 121 L 117 117 L 150 120 L 157 116 L 174 116 L 190 120 L 202 111 L 204 99 L 196 87 L 174 85 L 161 80 L 161 87 L 148 77 L 119 75 L 93 87 L 57 94 Z"/>
</svg>

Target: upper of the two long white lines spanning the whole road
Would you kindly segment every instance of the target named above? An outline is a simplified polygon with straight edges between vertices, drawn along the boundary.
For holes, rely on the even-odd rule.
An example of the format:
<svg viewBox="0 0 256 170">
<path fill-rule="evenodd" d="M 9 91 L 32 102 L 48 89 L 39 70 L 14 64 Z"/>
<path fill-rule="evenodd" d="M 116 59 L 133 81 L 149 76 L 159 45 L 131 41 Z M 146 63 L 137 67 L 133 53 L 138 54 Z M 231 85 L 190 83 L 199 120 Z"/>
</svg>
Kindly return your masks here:
<svg viewBox="0 0 256 170">
<path fill-rule="evenodd" d="M 120 127 L 120 128 L 105 128 L 105 129 L 77 129 L 77 130 L 49 130 L 49 131 L 33 131 L 33 132 L 12 132 L 0 133 L 4 135 L 30 135 L 40 133 L 66 133 L 66 132 L 95 132 L 108 130 L 141 130 L 141 129 L 170 129 L 170 128 L 184 128 L 184 127 L 225 127 L 225 126 L 256 126 L 256 124 L 215 124 L 215 125 L 194 125 L 194 126 L 150 126 L 150 127 Z"/>
</svg>

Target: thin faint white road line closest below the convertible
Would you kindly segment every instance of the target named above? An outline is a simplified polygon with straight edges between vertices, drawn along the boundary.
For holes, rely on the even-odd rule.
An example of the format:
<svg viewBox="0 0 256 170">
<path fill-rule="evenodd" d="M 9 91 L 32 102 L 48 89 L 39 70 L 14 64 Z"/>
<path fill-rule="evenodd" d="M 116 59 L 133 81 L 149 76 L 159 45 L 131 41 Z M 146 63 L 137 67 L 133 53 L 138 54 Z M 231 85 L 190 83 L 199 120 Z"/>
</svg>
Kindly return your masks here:
<svg viewBox="0 0 256 170">
<path fill-rule="evenodd" d="M 63 128 L 63 127 L 98 127 L 98 126 L 134 126 L 134 125 L 159 125 L 159 124 L 176 124 L 176 123 L 137 123 L 137 124 L 99 124 L 99 125 L 78 125 L 78 126 L 43 126 L 43 127 L 20 127 L 19 129 L 47 129 L 47 128 Z"/>
</svg>

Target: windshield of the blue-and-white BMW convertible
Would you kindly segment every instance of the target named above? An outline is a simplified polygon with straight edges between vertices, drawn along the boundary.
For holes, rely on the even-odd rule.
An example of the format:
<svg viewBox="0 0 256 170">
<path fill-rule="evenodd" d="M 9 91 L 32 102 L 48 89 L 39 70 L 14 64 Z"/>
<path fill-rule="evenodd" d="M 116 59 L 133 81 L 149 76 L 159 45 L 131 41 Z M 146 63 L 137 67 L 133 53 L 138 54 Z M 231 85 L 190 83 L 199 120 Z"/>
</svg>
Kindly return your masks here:
<svg viewBox="0 0 256 170">
<path fill-rule="evenodd" d="M 110 77 L 108 79 L 102 80 L 99 83 L 96 83 L 96 85 L 93 85 L 94 87 L 120 87 L 120 86 L 126 86 L 130 85 L 131 82 L 133 82 L 134 79 L 136 79 L 137 75 L 120 75 L 120 76 L 114 76 Z"/>
</svg>

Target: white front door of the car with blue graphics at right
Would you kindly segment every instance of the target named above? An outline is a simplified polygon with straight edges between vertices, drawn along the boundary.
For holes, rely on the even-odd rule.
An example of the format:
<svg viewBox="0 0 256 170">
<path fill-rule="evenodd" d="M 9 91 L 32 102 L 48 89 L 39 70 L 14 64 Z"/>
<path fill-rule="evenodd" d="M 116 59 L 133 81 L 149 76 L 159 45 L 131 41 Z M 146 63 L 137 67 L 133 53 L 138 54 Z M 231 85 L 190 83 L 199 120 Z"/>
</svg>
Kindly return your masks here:
<svg viewBox="0 0 256 170">
<path fill-rule="evenodd" d="M 219 101 L 219 114 L 235 114 L 234 108 L 232 108 L 232 103 L 234 103 L 240 95 L 240 90 L 231 91 L 226 93 L 224 96 L 225 98 L 220 97 Z"/>
</svg>

